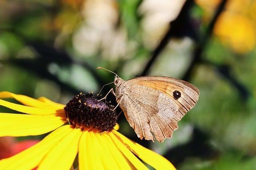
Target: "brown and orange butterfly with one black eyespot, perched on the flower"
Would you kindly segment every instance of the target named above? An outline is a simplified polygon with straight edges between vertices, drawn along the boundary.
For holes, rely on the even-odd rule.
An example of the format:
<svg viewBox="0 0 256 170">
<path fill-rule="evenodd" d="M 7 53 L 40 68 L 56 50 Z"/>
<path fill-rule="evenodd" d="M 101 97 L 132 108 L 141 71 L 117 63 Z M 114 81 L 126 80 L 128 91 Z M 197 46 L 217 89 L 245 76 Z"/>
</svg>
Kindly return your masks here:
<svg viewBox="0 0 256 170">
<path fill-rule="evenodd" d="M 125 81 L 116 74 L 114 84 L 116 93 L 112 88 L 108 94 L 112 92 L 116 96 L 137 136 L 152 141 L 154 136 L 159 142 L 171 138 L 172 132 L 178 129 L 178 121 L 195 106 L 199 97 L 198 88 L 171 77 L 142 76 Z"/>
</svg>

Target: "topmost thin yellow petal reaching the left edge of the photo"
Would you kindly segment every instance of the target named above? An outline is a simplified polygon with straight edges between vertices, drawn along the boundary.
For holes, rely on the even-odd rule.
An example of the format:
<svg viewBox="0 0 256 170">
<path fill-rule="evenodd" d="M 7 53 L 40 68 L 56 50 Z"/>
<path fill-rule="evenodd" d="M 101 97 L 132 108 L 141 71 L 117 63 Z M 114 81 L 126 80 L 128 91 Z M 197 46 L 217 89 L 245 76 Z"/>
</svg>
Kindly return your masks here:
<svg viewBox="0 0 256 170">
<path fill-rule="evenodd" d="M 20 95 L 20 94 L 13 94 L 10 92 L 0 92 L 0 98 L 14 98 L 20 103 L 26 105 L 26 106 L 32 106 L 32 107 L 39 107 L 39 108 L 45 108 L 45 107 L 56 107 L 50 104 L 47 104 L 45 102 L 41 102 L 39 100 L 30 98 L 28 96 Z M 62 109 L 63 107 L 58 106 L 59 109 Z"/>
</svg>

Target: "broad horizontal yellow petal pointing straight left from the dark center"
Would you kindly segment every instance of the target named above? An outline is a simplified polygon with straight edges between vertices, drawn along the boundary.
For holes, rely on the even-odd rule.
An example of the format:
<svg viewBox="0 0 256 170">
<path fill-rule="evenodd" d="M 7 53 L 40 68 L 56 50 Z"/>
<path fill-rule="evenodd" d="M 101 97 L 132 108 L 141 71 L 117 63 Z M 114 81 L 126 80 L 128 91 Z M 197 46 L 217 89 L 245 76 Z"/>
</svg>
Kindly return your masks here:
<svg viewBox="0 0 256 170">
<path fill-rule="evenodd" d="M 60 127 L 65 117 L 0 113 L 0 136 L 41 135 Z"/>
</svg>

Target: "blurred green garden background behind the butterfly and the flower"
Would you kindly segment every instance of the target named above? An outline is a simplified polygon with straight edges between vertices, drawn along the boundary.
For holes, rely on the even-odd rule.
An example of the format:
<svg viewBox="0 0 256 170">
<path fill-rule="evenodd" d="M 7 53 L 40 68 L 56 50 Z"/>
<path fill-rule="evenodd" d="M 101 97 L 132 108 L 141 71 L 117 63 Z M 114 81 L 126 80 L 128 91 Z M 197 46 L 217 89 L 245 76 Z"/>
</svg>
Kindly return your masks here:
<svg viewBox="0 0 256 170">
<path fill-rule="evenodd" d="M 161 144 L 118 118 L 121 133 L 179 170 L 256 169 L 255 47 L 256 0 L 0 1 L 0 91 L 66 104 L 113 81 L 97 66 L 125 80 L 158 75 L 197 86 L 198 104 Z M 0 148 L 44 136 L 0 138 Z"/>
</svg>

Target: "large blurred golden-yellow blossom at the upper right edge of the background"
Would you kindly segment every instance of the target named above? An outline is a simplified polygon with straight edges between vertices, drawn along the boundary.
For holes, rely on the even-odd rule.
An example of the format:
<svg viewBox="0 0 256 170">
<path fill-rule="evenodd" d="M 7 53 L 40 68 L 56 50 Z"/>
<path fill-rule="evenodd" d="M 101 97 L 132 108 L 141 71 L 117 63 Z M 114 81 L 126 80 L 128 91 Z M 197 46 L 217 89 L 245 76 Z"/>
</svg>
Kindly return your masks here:
<svg viewBox="0 0 256 170">
<path fill-rule="evenodd" d="M 224 44 L 230 45 L 237 53 L 252 51 L 256 45 L 255 24 L 249 18 L 223 12 L 214 27 L 214 33 Z"/>
</svg>

